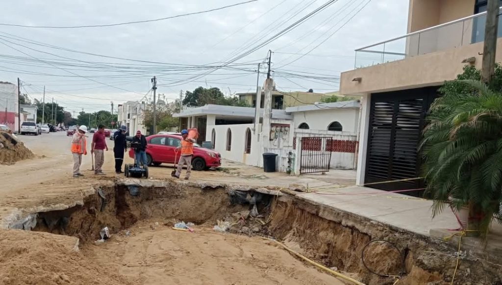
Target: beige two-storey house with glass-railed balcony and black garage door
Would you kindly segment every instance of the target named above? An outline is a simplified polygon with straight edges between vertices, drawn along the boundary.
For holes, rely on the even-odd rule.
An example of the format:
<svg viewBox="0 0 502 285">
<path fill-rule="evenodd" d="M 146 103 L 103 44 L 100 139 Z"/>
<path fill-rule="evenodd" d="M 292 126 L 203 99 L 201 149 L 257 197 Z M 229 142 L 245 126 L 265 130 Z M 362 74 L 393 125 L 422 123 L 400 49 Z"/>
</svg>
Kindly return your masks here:
<svg viewBox="0 0 502 285">
<path fill-rule="evenodd" d="M 466 64 L 481 67 L 486 2 L 410 0 L 406 35 L 356 50 L 354 69 L 341 74 L 340 93 L 363 98 L 358 185 L 423 187 L 417 147 L 426 113 L 444 81 Z"/>
</svg>

